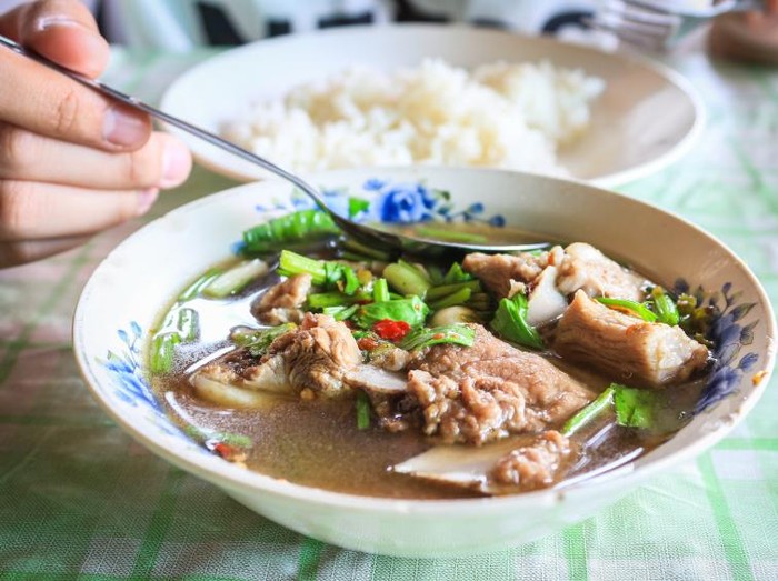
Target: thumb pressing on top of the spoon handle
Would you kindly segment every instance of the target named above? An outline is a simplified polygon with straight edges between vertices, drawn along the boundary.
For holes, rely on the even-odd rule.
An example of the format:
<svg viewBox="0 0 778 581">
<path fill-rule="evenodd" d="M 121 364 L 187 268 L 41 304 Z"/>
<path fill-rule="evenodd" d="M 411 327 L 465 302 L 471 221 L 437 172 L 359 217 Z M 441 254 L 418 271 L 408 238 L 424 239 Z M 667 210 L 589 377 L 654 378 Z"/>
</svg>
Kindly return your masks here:
<svg viewBox="0 0 778 581">
<path fill-rule="evenodd" d="M 0 16 L 0 34 L 92 78 L 103 71 L 110 56 L 91 12 L 77 0 L 24 3 Z"/>
</svg>

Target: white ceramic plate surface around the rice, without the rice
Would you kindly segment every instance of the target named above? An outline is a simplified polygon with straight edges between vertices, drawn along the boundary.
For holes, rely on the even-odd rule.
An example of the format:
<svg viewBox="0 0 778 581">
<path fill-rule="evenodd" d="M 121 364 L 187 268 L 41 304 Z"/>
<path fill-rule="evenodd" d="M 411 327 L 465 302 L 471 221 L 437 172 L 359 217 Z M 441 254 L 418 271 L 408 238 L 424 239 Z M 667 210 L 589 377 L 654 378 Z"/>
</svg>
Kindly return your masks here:
<svg viewBox="0 0 778 581">
<path fill-rule="evenodd" d="M 428 57 L 473 68 L 506 60 L 581 68 L 607 82 L 592 108 L 592 123 L 560 151 L 571 177 L 614 187 L 659 170 L 686 152 L 702 126 L 695 90 L 677 72 L 639 57 L 610 54 L 549 38 L 451 26 L 349 27 L 263 40 L 212 58 L 173 82 L 164 111 L 219 132 L 261 98 L 349 66 L 385 71 L 415 67 Z M 205 166 L 242 181 L 262 170 L 189 134 L 179 134 Z M 293 168 L 286 168 L 292 169 Z"/>
</svg>

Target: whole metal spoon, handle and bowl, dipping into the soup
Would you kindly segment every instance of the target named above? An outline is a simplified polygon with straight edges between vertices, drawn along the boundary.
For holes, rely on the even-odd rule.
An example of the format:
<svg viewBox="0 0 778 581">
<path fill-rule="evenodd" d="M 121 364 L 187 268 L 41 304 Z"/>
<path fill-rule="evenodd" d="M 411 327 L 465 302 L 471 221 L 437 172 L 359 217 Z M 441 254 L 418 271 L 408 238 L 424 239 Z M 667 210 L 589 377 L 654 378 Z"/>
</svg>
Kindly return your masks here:
<svg viewBox="0 0 778 581">
<path fill-rule="evenodd" d="M 473 244 L 463 242 L 452 242 L 446 240 L 435 240 L 426 237 L 409 236 L 406 233 L 389 232 L 368 224 L 357 223 L 330 210 L 327 207 L 327 202 L 325 201 L 321 193 L 310 183 L 305 181 L 302 178 L 282 168 L 279 168 L 275 163 L 266 160 L 265 158 L 260 158 L 259 156 L 256 156 L 255 153 L 251 153 L 250 151 L 247 151 L 236 146 L 235 143 L 226 141 L 225 139 L 216 136 L 215 133 L 211 133 L 210 131 L 206 131 L 205 129 L 193 126 L 187 121 L 183 121 L 182 119 L 166 113 L 164 111 L 160 111 L 159 109 L 156 109 L 134 97 L 130 97 L 129 94 L 124 94 L 121 91 L 108 87 L 101 83 L 100 81 L 89 79 L 77 72 L 66 69 L 64 67 L 57 64 L 56 62 L 38 54 L 37 52 L 26 49 L 18 42 L 14 42 L 3 36 L 0 36 L 0 44 L 12 50 L 13 52 L 27 57 L 28 59 L 32 59 L 41 64 L 44 64 L 46 67 L 53 69 L 57 72 L 64 74 L 66 77 L 69 77 L 70 79 L 73 79 L 74 81 L 86 87 L 89 87 L 90 89 L 107 94 L 116 99 L 117 101 L 121 101 L 122 103 L 126 103 L 132 107 L 133 109 L 143 111 L 144 113 L 148 113 L 151 117 L 159 119 L 160 121 L 163 121 L 172 127 L 181 129 L 182 131 L 191 133 L 194 137 L 198 137 L 218 148 L 229 151 L 230 153 L 241 159 L 245 159 L 270 171 L 271 173 L 275 173 L 276 176 L 283 178 L 285 180 L 297 186 L 306 194 L 308 194 L 308 197 L 310 197 L 323 212 L 327 212 L 332 218 L 335 223 L 338 224 L 338 227 L 340 227 L 340 229 L 345 233 L 347 233 L 349 237 L 357 239 L 359 242 L 369 244 L 371 248 L 386 249 L 390 251 L 411 252 L 413 254 L 439 256 L 446 252 L 511 252 L 520 250 L 537 250 L 547 248 L 549 246 L 546 242 L 522 244 Z"/>
</svg>

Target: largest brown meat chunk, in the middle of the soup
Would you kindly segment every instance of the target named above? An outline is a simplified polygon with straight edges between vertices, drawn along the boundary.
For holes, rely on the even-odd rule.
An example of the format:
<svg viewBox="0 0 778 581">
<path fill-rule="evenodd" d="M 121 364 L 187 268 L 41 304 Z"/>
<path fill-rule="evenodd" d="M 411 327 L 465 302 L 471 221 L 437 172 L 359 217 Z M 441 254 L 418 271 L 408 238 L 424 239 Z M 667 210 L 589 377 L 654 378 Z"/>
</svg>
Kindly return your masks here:
<svg viewBox="0 0 778 581">
<path fill-rule="evenodd" d="M 558 424 L 594 398 L 542 357 L 471 327 L 472 347 L 435 345 L 409 363 L 408 390 L 422 408 L 427 434 L 480 444 Z"/>
</svg>

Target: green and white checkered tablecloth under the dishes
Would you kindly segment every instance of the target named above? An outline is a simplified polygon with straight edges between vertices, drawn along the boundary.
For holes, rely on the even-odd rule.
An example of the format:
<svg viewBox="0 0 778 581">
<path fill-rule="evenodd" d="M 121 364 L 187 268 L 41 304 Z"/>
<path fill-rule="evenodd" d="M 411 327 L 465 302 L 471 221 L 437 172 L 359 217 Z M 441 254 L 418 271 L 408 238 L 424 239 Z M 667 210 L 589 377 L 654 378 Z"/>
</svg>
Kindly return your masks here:
<svg viewBox="0 0 778 581">
<path fill-rule="evenodd" d="M 205 56 L 117 52 L 108 80 L 153 100 Z M 624 191 L 721 238 L 775 301 L 778 70 L 711 63 L 700 52 L 670 64 L 705 97 L 709 126 L 681 162 Z M 197 168 L 153 214 L 231 184 Z M 138 226 L 0 271 L 0 579 L 778 579 L 776 381 L 750 417 L 695 462 L 597 517 L 502 552 L 377 557 L 249 512 L 130 440 L 79 379 L 70 341 L 78 294 Z"/>
</svg>

